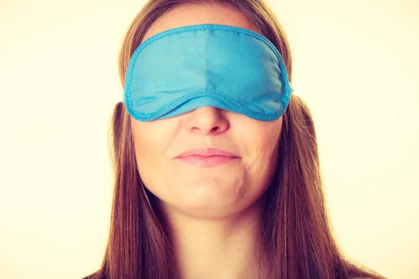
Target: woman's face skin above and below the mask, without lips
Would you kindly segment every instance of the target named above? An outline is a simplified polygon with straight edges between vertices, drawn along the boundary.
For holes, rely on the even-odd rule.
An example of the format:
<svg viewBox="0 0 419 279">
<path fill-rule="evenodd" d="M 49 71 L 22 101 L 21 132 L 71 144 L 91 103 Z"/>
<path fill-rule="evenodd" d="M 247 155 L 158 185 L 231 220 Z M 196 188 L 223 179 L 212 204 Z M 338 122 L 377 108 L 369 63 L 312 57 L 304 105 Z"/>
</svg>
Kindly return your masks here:
<svg viewBox="0 0 419 279">
<path fill-rule="evenodd" d="M 234 8 L 188 5 L 170 10 L 145 34 L 195 24 L 223 24 L 258 31 Z M 200 107 L 170 119 L 141 122 L 131 117 L 135 158 L 145 186 L 166 211 L 221 218 L 250 208 L 270 185 L 277 167 L 282 117 L 257 121 L 242 114 Z M 216 148 L 235 158 L 178 158 L 190 149 Z M 191 163 L 194 159 L 204 165 Z M 199 160 L 203 159 L 203 160 Z M 205 165 L 210 160 L 224 163 Z"/>
</svg>

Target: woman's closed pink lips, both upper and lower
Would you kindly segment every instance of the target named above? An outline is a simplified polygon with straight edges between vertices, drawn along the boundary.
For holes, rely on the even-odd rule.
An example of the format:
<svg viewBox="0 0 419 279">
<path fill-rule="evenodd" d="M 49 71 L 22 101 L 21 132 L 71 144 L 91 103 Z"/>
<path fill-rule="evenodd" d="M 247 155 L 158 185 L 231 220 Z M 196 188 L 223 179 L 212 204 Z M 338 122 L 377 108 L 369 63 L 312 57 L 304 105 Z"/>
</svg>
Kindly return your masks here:
<svg viewBox="0 0 419 279">
<path fill-rule="evenodd" d="M 175 159 L 196 167 L 215 167 L 240 159 L 234 153 L 214 148 L 198 148 L 185 151 Z"/>
</svg>

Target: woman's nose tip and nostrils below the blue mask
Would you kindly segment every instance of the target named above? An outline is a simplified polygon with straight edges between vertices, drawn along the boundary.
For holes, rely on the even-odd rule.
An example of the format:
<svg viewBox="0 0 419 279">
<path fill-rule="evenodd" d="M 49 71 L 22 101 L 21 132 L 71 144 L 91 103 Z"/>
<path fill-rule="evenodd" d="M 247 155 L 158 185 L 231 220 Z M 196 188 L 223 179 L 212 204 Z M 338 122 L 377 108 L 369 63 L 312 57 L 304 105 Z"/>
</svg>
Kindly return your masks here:
<svg viewBox="0 0 419 279">
<path fill-rule="evenodd" d="M 199 107 L 184 115 L 183 126 L 192 133 L 216 135 L 228 129 L 228 119 L 217 107 Z"/>
</svg>

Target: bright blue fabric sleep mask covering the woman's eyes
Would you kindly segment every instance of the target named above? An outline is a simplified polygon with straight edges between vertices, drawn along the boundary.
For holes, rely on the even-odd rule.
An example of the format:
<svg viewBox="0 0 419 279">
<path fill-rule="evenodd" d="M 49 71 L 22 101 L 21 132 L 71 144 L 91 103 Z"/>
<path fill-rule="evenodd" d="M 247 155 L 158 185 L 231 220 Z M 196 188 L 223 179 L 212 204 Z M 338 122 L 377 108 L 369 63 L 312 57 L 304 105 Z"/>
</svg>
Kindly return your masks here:
<svg viewBox="0 0 419 279">
<path fill-rule="evenodd" d="M 218 107 L 278 119 L 293 93 L 284 60 L 264 36 L 218 24 L 178 27 L 145 40 L 126 70 L 124 102 L 138 121 Z"/>
</svg>

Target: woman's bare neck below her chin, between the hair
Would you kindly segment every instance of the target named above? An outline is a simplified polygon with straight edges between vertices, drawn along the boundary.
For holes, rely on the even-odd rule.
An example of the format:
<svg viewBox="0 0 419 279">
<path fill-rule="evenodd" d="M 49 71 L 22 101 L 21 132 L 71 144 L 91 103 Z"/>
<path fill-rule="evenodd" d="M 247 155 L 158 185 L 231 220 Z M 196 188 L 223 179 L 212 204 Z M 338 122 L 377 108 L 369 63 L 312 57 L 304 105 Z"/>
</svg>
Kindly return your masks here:
<svg viewBox="0 0 419 279">
<path fill-rule="evenodd" d="M 197 219 L 162 206 L 180 279 L 255 279 L 260 274 L 259 229 L 264 199 L 218 219 Z"/>
</svg>

